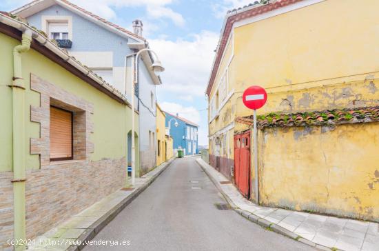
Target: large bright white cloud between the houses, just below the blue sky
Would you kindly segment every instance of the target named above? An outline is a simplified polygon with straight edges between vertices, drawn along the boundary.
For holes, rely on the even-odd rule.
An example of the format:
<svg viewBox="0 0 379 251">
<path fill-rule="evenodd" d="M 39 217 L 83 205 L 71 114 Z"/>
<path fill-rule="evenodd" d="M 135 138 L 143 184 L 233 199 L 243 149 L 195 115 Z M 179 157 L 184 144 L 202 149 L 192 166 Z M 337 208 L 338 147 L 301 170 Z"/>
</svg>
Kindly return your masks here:
<svg viewBox="0 0 379 251">
<path fill-rule="evenodd" d="M 150 47 L 165 67 L 161 91 L 204 96 L 217 41 L 218 34 L 209 31 L 193 34 L 191 40 L 150 39 Z"/>
</svg>

